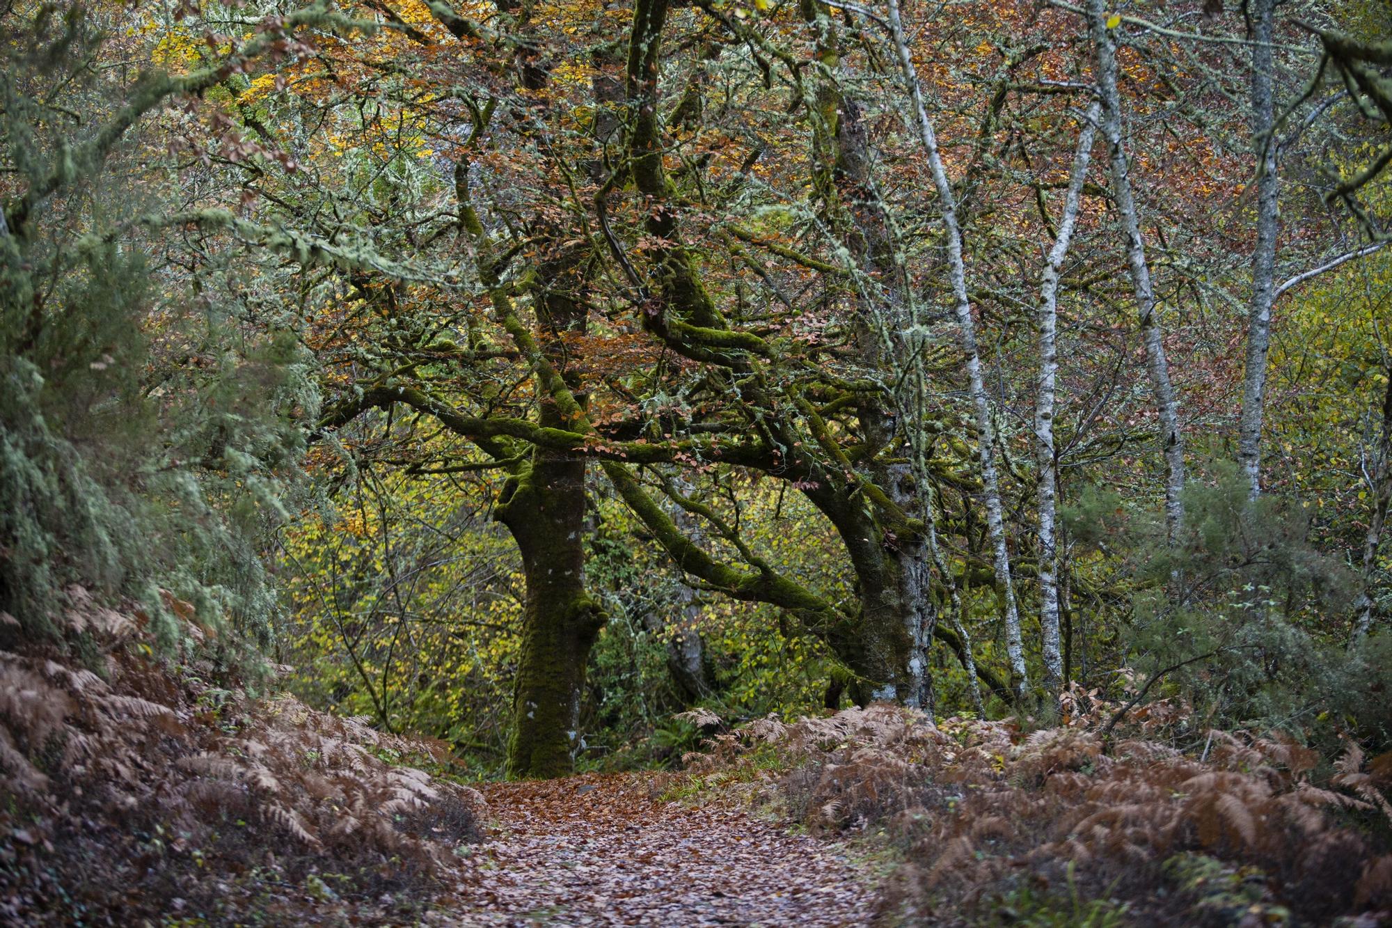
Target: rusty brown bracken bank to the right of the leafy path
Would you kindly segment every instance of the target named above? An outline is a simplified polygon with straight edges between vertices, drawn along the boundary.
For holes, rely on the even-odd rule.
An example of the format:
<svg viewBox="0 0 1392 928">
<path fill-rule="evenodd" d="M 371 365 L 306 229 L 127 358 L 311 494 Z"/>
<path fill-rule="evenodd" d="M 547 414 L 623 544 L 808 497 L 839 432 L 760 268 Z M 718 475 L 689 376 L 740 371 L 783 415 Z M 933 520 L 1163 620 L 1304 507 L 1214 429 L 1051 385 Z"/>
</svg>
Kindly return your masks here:
<svg viewBox="0 0 1392 928">
<path fill-rule="evenodd" d="M 1086 726 L 1025 734 L 888 705 L 763 719 L 717 734 L 682 776 L 743 768 L 727 779 L 813 830 L 883 828 L 908 861 L 899 915 L 933 924 L 1237 924 L 1222 921 L 1235 900 L 1270 915 L 1251 924 L 1392 910 L 1392 757 L 1350 743 L 1327 768 L 1290 740 L 1228 732 L 1193 757 Z M 768 750 L 786 765 L 754 773 Z M 1045 918 L 1045 899 L 1082 921 Z"/>
</svg>

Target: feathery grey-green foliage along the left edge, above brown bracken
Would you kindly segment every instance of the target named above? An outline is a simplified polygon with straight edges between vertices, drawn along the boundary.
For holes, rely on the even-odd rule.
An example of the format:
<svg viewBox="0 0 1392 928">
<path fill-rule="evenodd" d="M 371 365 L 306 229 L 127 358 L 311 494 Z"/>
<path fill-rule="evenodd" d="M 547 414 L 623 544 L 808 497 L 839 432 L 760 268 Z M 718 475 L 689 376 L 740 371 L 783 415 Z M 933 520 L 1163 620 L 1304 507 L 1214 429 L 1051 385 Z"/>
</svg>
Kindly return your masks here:
<svg viewBox="0 0 1392 928">
<path fill-rule="evenodd" d="M 298 343 L 246 325 L 226 266 L 161 277 L 171 245 L 131 222 L 164 206 L 131 117 L 159 100 L 149 79 L 86 67 L 99 24 L 74 7 L 6 31 L 0 610 L 17 626 L 4 624 L 61 631 L 78 585 L 138 602 L 166 645 L 181 637 L 170 594 L 235 633 L 217 637 L 226 656 L 264 647 L 277 599 L 260 552 L 287 516 L 296 421 L 317 414 Z"/>
</svg>

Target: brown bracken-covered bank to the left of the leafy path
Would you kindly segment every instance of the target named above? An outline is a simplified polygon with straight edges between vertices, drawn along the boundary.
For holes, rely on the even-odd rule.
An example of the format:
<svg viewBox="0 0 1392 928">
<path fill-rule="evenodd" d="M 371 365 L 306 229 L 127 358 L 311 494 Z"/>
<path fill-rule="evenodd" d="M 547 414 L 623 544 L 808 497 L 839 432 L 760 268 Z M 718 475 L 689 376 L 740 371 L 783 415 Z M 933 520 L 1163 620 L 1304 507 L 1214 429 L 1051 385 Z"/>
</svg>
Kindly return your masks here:
<svg viewBox="0 0 1392 928">
<path fill-rule="evenodd" d="M 287 921 L 308 893 L 319 920 L 386 922 L 468 879 L 482 798 L 406 765 L 438 745 L 213 686 L 150 648 L 148 616 L 68 599 L 90 666 L 0 651 L 0 921 Z"/>
</svg>

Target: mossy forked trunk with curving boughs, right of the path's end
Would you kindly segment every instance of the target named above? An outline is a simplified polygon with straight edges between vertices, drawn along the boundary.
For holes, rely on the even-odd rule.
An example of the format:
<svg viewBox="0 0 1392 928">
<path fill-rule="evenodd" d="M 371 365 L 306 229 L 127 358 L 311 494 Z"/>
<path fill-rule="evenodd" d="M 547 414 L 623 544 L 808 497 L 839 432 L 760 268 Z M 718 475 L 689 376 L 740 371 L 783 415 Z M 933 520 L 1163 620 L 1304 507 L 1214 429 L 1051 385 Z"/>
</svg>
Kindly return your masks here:
<svg viewBox="0 0 1392 928">
<path fill-rule="evenodd" d="M 670 180 L 663 171 L 663 152 L 658 144 L 657 77 L 667 11 L 667 0 L 640 0 L 636 4 L 628 63 L 629 110 L 635 114 L 629 134 L 633 180 L 638 190 L 656 202 L 668 201 L 672 195 Z M 807 0 L 803 14 L 818 29 L 818 61 L 823 67 L 834 70 L 838 53 L 825 8 L 818 7 L 814 0 Z M 885 235 L 883 217 L 877 212 L 877 201 L 867 195 L 869 160 L 859 110 L 856 109 L 848 118 L 846 113 L 853 107 L 853 102 L 842 98 L 830 84 L 818 88 L 814 106 L 818 116 L 813 185 L 825 205 L 828 222 L 848 242 L 867 276 L 892 277 L 891 242 Z M 677 210 L 672 209 L 654 210 L 647 224 L 649 234 L 660 241 L 679 242 L 682 237 L 677 227 Z M 653 254 L 663 263 L 664 273 L 657 277 L 661 312 L 653 312 L 644 319 L 650 329 L 686 357 L 715 362 L 739 376 L 739 387 L 735 392 L 757 410 L 753 426 L 768 433 L 771 444 L 780 447 L 805 444 L 807 435 L 796 431 L 781 412 L 775 412 L 778 404 L 768 394 L 763 378 L 753 369 L 749 358 L 742 357 L 741 350 L 746 343 L 721 337 L 728 327 L 706 294 L 697 265 L 688 251 L 678 245 L 656 249 Z M 860 295 L 873 301 L 885 294 Z M 856 319 L 857 343 L 866 366 L 878 369 L 885 350 L 878 326 L 884 320 L 867 309 L 863 301 L 859 308 L 863 312 Z M 704 341 L 683 341 L 683 333 L 696 333 Z M 711 346 L 722 347 L 711 350 Z M 891 417 L 878 405 L 881 399 L 869 400 L 860 417 L 867 431 L 867 443 L 878 442 L 880 447 L 887 446 L 894 433 Z M 803 493 L 830 518 L 841 535 L 857 580 L 860 608 L 855 614 L 848 612 L 832 617 L 821 605 L 800 609 L 793 606 L 795 601 L 810 602 L 817 598 L 810 594 L 788 595 L 782 584 L 761 584 L 752 577 L 735 575 L 732 571 L 725 571 L 731 574 L 727 577 L 710 569 L 704 559 L 689 550 L 690 539 L 685 538 L 665 514 L 657 513 L 650 506 L 644 507 L 642 500 L 639 506 L 647 511 L 639 514 L 650 527 L 661 524 L 665 535 L 677 542 L 668 550 L 683 569 L 693 570 L 696 566 L 704 569 L 706 578 L 714 578 L 715 585 L 739 587 L 736 595 L 741 598 L 760 598 L 753 592 L 754 588 L 777 594 L 767 602 L 792 608 L 805 616 L 853 673 L 851 690 L 856 702 L 894 699 L 917 704 L 927 693 L 923 656 L 927 638 L 933 634 L 933 623 L 923 621 L 926 612 L 931 612 L 931 603 L 927 599 L 928 573 L 922 553 L 920 528 L 883 492 L 878 493 L 878 502 L 867 509 L 864 500 L 867 488 L 859 475 L 853 475 L 855 465 L 839 450 L 837 439 L 820 421 L 814 407 L 805 399 L 798 405 L 814 433 L 816 446 L 825 453 L 827 461 L 781 460 L 777 467 L 785 478 L 798 479 L 805 485 Z M 615 478 L 622 481 L 622 475 Z M 638 496 L 636 489 L 628 488 L 628 499 Z M 871 509 L 874 511 L 870 511 Z"/>
</svg>

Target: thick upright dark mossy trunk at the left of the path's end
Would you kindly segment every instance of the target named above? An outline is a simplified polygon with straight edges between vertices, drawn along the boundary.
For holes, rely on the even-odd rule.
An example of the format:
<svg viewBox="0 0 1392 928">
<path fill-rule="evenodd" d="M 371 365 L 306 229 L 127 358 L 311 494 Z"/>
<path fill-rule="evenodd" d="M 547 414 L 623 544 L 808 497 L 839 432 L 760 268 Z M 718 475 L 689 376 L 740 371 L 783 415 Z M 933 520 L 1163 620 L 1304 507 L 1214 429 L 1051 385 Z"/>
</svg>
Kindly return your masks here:
<svg viewBox="0 0 1392 928">
<path fill-rule="evenodd" d="M 530 89 L 547 85 L 547 68 L 523 63 L 522 70 L 523 84 Z M 614 120 L 611 105 L 622 98 L 622 86 L 596 75 L 592 89 L 594 99 L 606 105 L 596 110 L 594 128 L 607 135 Z M 480 116 L 477 130 L 487 123 L 491 109 Z M 600 162 L 590 155 L 593 150 L 585 149 L 575 157 L 597 180 Z M 507 259 L 494 254 L 473 208 L 468 159 L 457 166 L 455 188 L 461 227 L 476 248 L 479 276 L 490 288 L 496 318 L 532 366 L 540 400 L 537 425 L 583 429 L 587 394 L 574 336 L 583 334 L 589 325 L 585 295 L 593 270 L 589 249 L 574 240 L 574 226 L 565 217 L 536 217 L 530 254 L 540 255 L 540 261 L 535 274 L 523 276 L 536 314 L 535 325 L 529 325 L 516 311 L 511 284 L 503 280 Z M 480 442 L 480 447 L 497 458 L 511 458 L 508 446 Z M 529 461 L 508 465 L 509 477 L 494 510 L 518 545 L 526 582 L 507 751 L 507 771 L 514 778 L 568 773 L 580 741 L 585 666 L 604 626 L 604 613 L 585 587 L 585 471 L 583 456 L 539 444 Z"/>
</svg>

